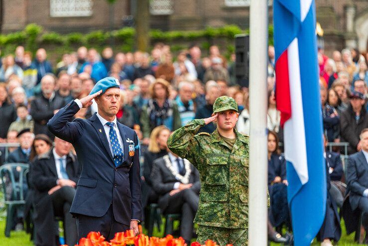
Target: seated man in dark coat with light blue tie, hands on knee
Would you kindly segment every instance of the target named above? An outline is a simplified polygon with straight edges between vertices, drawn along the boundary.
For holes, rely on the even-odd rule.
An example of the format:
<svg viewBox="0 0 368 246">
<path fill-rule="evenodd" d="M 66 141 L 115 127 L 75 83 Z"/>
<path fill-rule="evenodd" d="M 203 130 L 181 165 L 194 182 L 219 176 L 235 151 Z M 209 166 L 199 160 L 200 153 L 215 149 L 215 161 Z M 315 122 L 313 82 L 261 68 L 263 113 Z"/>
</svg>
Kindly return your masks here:
<svg viewBox="0 0 368 246">
<path fill-rule="evenodd" d="M 69 213 L 80 176 L 77 157 L 71 152 L 71 144 L 55 138 L 55 147 L 37 157 L 32 164 L 31 182 L 35 187 L 33 200 L 35 244 L 53 246 L 55 216 L 64 217 L 67 245 L 77 243 L 77 224 Z"/>
</svg>

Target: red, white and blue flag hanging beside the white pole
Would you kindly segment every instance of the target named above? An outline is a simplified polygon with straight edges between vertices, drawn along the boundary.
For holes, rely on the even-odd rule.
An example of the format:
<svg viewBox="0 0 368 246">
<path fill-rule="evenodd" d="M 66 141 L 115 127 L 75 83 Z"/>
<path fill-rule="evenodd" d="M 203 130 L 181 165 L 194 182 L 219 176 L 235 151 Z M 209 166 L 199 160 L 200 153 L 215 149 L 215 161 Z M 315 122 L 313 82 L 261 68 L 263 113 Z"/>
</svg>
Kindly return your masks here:
<svg viewBox="0 0 368 246">
<path fill-rule="evenodd" d="M 294 242 L 307 246 L 326 213 L 326 169 L 314 0 L 274 0 L 276 102 L 284 126 Z"/>
</svg>

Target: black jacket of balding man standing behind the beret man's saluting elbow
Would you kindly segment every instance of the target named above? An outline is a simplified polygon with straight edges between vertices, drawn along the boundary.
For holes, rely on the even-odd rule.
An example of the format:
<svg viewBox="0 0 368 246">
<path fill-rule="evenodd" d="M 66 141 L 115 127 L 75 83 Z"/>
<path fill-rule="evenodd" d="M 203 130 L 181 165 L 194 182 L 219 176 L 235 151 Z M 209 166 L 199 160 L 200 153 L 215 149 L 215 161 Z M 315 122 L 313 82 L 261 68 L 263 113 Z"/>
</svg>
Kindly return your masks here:
<svg viewBox="0 0 368 246">
<path fill-rule="evenodd" d="M 56 95 L 52 100 L 43 95 L 36 97 L 31 102 L 30 115 L 34 120 L 34 134 L 46 134 L 53 139 L 52 134 L 47 130 L 46 123 L 54 116 L 54 110 L 65 106 L 64 98 Z"/>
</svg>

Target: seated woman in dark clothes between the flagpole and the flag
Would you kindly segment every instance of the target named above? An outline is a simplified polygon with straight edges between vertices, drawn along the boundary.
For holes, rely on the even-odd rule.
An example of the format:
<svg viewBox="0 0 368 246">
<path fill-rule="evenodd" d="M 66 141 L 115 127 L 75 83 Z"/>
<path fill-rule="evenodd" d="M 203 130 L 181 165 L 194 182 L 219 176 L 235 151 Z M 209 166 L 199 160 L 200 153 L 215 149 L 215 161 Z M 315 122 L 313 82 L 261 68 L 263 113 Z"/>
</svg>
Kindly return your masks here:
<svg viewBox="0 0 368 246">
<path fill-rule="evenodd" d="M 269 220 L 274 227 L 283 224 L 291 229 L 286 186 L 286 161 L 280 155 L 279 139 L 274 131 L 268 132 L 268 191 L 270 194 Z M 281 231 L 280 231 L 281 233 Z"/>
</svg>

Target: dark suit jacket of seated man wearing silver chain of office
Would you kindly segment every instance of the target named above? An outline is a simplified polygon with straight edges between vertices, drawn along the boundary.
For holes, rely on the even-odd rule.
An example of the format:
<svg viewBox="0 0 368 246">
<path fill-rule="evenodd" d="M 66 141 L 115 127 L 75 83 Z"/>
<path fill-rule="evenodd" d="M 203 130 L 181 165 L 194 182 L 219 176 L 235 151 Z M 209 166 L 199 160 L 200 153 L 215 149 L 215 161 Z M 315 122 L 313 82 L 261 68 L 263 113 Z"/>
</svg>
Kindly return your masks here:
<svg viewBox="0 0 368 246">
<path fill-rule="evenodd" d="M 174 189 L 174 184 L 176 182 L 180 182 L 175 178 L 175 176 L 169 170 L 169 168 L 167 168 L 164 159 L 166 157 L 168 156 L 161 157 L 156 161 L 154 161 L 151 173 L 152 188 L 160 196 L 159 206 L 163 212 L 165 212 L 165 209 L 168 207 L 170 199 L 169 196 L 165 195 L 170 193 Z M 190 170 L 191 173 L 189 176 L 188 184 L 193 184 L 191 189 L 193 189 L 197 194 L 199 194 L 200 191 L 199 172 L 192 164 L 190 164 Z"/>
</svg>

